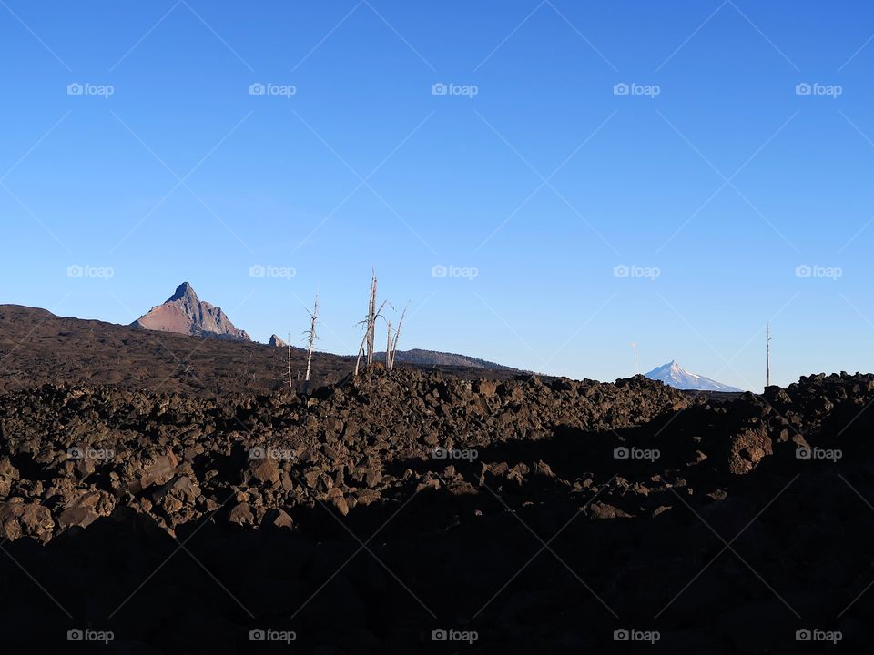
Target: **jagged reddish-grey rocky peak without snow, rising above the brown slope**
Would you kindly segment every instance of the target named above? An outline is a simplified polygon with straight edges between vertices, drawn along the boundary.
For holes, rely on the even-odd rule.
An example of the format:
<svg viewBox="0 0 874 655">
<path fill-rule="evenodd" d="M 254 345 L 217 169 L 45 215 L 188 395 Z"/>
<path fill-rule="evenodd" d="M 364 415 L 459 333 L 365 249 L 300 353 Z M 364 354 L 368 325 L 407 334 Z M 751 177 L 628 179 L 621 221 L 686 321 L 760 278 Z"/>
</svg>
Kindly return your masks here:
<svg viewBox="0 0 874 655">
<path fill-rule="evenodd" d="M 221 307 L 201 301 L 188 282 L 180 284 L 163 305 L 152 307 L 146 315 L 131 323 L 131 327 L 228 341 L 251 341 L 246 332 L 234 327 Z"/>
</svg>

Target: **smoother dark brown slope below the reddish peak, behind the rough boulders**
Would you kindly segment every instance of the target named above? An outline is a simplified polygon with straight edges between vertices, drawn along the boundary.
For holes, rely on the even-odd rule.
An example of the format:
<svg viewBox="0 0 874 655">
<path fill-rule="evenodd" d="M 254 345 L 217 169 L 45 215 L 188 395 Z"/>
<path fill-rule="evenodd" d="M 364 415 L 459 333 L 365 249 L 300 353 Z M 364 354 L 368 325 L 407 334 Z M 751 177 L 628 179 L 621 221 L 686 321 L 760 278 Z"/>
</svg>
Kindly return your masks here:
<svg viewBox="0 0 874 655">
<path fill-rule="evenodd" d="M 310 387 L 339 381 L 354 365 L 352 357 L 316 353 Z M 291 348 L 291 368 L 299 383 L 306 351 Z M 438 368 L 449 376 L 513 377 L 512 371 Z M 0 392 L 64 381 L 198 395 L 267 392 L 288 386 L 288 350 L 0 305 Z"/>
</svg>

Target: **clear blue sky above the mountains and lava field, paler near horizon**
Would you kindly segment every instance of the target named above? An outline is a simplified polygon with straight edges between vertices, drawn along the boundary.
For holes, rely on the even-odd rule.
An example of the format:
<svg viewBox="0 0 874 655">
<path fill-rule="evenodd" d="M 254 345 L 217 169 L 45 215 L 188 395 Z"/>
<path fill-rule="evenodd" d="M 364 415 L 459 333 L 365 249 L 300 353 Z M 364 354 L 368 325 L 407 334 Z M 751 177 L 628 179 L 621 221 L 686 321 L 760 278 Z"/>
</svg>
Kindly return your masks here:
<svg viewBox="0 0 874 655">
<path fill-rule="evenodd" d="M 872 35 L 868 2 L 3 0 L 0 302 L 127 323 L 188 280 L 266 341 L 319 288 L 345 353 L 372 265 L 403 348 L 612 380 L 634 341 L 758 389 L 770 319 L 777 383 L 872 370 Z"/>
</svg>

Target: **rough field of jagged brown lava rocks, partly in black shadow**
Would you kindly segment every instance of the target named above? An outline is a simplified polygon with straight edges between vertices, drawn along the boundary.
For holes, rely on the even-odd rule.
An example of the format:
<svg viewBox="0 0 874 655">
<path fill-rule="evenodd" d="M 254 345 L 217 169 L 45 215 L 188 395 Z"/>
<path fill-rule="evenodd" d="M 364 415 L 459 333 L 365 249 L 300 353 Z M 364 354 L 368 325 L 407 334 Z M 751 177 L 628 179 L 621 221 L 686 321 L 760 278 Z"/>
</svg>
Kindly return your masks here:
<svg viewBox="0 0 874 655">
<path fill-rule="evenodd" d="M 860 652 L 874 376 L 0 397 L 11 650 Z M 36 649 L 36 650 L 35 650 Z"/>
</svg>

